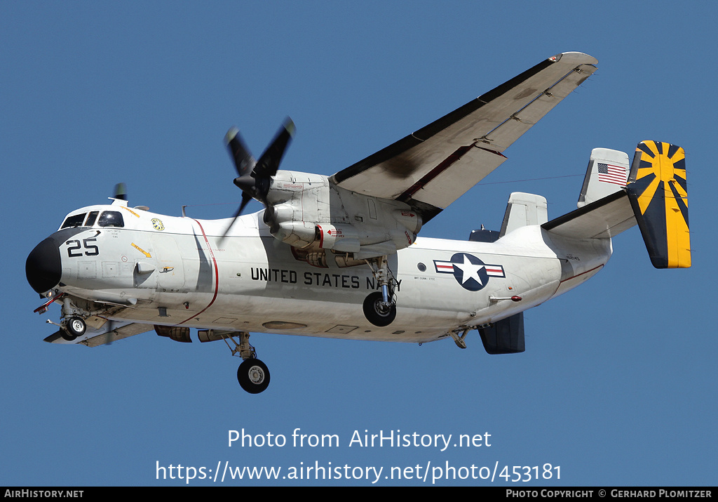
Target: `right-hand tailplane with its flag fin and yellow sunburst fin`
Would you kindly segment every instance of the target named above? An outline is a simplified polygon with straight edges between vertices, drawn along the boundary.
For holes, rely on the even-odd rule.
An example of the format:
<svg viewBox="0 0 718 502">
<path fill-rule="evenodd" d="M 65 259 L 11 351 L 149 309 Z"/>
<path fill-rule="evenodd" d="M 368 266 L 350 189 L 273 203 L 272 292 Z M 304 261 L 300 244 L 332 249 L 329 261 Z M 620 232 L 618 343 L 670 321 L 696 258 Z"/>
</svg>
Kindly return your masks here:
<svg viewBox="0 0 718 502">
<path fill-rule="evenodd" d="M 669 143 L 638 143 L 628 155 L 597 148 L 591 153 L 579 209 L 541 225 L 573 239 L 615 237 L 638 223 L 656 268 L 689 268 L 686 154 Z M 628 184 L 626 184 L 628 181 Z"/>
</svg>

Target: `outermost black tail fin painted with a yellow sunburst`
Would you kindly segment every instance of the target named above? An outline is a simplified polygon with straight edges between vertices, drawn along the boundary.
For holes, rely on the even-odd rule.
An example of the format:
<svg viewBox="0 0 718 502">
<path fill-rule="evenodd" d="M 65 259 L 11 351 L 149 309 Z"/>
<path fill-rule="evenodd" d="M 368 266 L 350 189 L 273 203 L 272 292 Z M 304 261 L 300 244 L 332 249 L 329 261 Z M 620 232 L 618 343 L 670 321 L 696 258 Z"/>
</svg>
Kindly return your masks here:
<svg viewBox="0 0 718 502">
<path fill-rule="evenodd" d="M 691 239 L 683 148 L 658 141 L 638 143 L 626 190 L 653 266 L 689 268 Z"/>
</svg>

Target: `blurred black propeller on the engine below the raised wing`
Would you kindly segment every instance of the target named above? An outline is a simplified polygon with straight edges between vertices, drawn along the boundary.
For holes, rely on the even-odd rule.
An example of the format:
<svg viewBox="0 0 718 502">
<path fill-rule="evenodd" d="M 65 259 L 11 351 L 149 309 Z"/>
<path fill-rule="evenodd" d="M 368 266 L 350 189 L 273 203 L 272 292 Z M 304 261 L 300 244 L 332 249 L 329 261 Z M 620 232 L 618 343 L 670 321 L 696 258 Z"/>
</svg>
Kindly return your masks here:
<svg viewBox="0 0 718 502">
<path fill-rule="evenodd" d="M 260 201 L 269 209 L 270 206 L 267 203 L 266 197 L 267 193 L 269 193 L 271 177 L 276 175 L 281 158 L 284 156 L 284 150 L 286 150 L 287 145 L 289 145 L 289 140 L 292 140 L 293 135 L 294 122 L 287 117 L 284 119 L 284 124 L 281 125 L 279 131 L 276 133 L 274 140 L 269 144 L 269 147 L 264 150 L 259 160 L 254 160 L 239 135 L 239 130 L 236 127 L 232 127 L 227 132 L 225 144 L 229 149 L 237 170 L 238 176 L 234 178 L 234 184 L 242 190 L 242 203 L 229 227 L 225 230 L 225 235 L 228 234 L 234 222 L 241 216 L 242 211 L 244 211 L 244 208 L 252 199 Z"/>
</svg>

